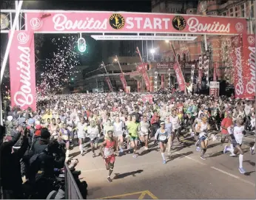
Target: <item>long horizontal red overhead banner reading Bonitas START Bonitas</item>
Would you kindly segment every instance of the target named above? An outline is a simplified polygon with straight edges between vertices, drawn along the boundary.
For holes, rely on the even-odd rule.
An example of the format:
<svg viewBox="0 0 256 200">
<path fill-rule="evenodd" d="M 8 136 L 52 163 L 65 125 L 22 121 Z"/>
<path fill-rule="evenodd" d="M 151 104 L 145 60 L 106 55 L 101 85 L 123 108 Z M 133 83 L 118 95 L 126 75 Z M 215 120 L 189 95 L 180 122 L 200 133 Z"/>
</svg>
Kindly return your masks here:
<svg viewBox="0 0 256 200">
<path fill-rule="evenodd" d="M 31 13 L 30 13 L 31 12 Z M 246 18 L 161 13 L 31 10 L 27 30 L 36 32 L 246 33 Z"/>
</svg>

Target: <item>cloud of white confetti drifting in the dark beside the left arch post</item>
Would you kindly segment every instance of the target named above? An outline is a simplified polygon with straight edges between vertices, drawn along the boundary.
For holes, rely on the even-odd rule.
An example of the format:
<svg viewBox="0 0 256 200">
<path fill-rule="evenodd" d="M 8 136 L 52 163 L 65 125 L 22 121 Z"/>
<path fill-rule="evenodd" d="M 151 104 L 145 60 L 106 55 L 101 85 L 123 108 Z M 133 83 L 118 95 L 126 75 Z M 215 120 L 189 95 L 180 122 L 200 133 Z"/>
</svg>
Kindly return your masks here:
<svg viewBox="0 0 256 200">
<path fill-rule="evenodd" d="M 51 39 L 55 52 L 53 58 L 46 58 L 44 63 L 44 73 L 38 80 L 38 95 L 55 94 L 59 92 L 61 87 L 67 84 L 70 77 L 75 77 L 73 69 L 80 64 L 79 55 L 81 52 L 76 51 L 78 36 L 68 35 L 61 38 Z"/>
</svg>

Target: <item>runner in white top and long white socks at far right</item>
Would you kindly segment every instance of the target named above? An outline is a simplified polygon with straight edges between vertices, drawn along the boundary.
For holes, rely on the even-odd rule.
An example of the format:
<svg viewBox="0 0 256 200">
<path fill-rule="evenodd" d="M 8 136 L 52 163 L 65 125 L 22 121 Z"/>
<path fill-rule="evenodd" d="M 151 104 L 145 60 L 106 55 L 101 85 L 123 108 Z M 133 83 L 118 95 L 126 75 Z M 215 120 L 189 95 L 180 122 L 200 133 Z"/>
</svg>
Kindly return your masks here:
<svg viewBox="0 0 256 200">
<path fill-rule="evenodd" d="M 246 171 L 243 169 L 243 149 L 242 149 L 243 135 L 246 134 L 246 131 L 242 124 L 243 124 L 242 117 L 238 117 L 235 127 L 229 126 L 228 131 L 229 131 L 230 137 L 232 138 L 232 145 L 234 148 L 230 148 L 228 145 L 226 145 L 223 150 L 223 154 L 226 154 L 226 151 L 230 151 L 232 154 L 239 153 L 238 170 L 240 171 L 240 173 L 246 173 Z"/>
</svg>

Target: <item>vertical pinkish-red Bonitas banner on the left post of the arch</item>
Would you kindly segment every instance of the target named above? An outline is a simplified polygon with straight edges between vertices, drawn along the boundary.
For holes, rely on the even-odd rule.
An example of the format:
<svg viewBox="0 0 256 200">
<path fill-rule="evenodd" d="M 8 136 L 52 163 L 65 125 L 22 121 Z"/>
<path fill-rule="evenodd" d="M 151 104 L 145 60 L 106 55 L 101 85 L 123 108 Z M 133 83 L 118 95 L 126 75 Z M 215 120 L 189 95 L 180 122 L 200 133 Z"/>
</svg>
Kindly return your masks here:
<svg viewBox="0 0 256 200">
<path fill-rule="evenodd" d="M 36 111 L 34 33 L 15 31 L 10 46 L 10 97 L 12 106 Z"/>
</svg>

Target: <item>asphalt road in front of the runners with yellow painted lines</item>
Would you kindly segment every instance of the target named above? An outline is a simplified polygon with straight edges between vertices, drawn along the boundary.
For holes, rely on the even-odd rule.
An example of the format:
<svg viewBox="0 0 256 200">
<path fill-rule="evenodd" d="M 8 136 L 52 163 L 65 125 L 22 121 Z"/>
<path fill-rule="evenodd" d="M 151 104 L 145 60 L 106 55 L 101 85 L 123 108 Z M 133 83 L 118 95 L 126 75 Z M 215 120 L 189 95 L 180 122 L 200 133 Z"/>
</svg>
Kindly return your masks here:
<svg viewBox="0 0 256 200">
<path fill-rule="evenodd" d="M 166 165 L 155 148 L 149 152 L 141 148 L 143 155 L 137 159 L 131 154 L 116 158 L 112 182 L 107 182 L 101 156 L 78 155 L 77 147 L 70 154 L 79 160 L 76 169 L 87 181 L 88 199 L 256 199 L 255 155 L 243 146 L 243 175 L 238 171 L 238 157 L 223 154 L 223 147 L 210 141 L 202 160 L 195 145 L 183 148 L 175 143 L 171 156 L 166 154 Z"/>
</svg>

